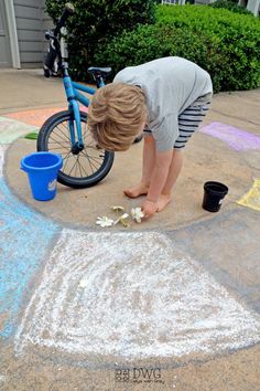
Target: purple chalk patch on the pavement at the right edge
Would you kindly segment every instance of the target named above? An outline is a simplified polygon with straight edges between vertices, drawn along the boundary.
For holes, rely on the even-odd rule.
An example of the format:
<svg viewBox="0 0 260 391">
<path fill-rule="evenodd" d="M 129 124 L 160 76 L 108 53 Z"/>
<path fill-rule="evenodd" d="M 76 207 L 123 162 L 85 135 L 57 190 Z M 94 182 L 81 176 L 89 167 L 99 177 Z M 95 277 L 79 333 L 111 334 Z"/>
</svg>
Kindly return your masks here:
<svg viewBox="0 0 260 391">
<path fill-rule="evenodd" d="M 259 136 L 227 124 L 214 121 L 203 126 L 199 131 L 219 138 L 237 151 L 260 149 Z"/>
</svg>

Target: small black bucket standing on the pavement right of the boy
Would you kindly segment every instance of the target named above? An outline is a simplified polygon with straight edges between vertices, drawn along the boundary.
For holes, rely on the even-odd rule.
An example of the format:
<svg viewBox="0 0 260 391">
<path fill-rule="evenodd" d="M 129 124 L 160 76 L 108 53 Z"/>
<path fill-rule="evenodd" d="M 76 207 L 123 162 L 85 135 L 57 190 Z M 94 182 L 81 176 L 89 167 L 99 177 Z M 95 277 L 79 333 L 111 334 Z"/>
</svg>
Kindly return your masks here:
<svg viewBox="0 0 260 391">
<path fill-rule="evenodd" d="M 208 212 L 218 212 L 227 193 L 226 184 L 213 181 L 204 183 L 203 209 Z"/>
</svg>

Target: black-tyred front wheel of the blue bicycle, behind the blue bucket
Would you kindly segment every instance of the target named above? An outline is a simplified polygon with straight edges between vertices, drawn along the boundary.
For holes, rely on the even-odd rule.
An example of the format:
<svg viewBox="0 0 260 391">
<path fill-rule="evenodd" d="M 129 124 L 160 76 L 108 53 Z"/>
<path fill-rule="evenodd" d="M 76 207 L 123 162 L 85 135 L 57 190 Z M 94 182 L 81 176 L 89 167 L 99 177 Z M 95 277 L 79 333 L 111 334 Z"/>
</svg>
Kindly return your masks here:
<svg viewBox="0 0 260 391">
<path fill-rule="evenodd" d="M 64 125 L 64 124 L 68 124 L 68 120 L 74 120 L 74 114 L 71 110 L 64 110 L 64 112 L 59 112 L 54 114 L 53 116 L 51 116 L 48 119 L 46 119 L 46 121 L 42 125 L 39 136 L 37 136 L 37 151 L 50 151 L 50 152 L 55 152 L 55 154 L 59 154 L 63 157 L 63 162 L 65 161 L 65 159 L 75 159 L 76 162 L 74 163 L 74 166 L 76 166 L 76 170 L 77 170 L 77 162 L 79 160 L 79 158 L 77 158 L 78 156 L 80 156 L 80 158 L 83 158 L 83 162 L 85 163 L 85 166 L 87 167 L 87 165 L 90 168 L 90 175 L 86 175 L 84 177 L 77 177 L 75 175 L 72 175 L 72 170 L 66 173 L 65 172 L 65 166 L 67 165 L 67 161 L 63 165 L 62 169 L 58 171 L 57 175 L 57 181 L 62 184 L 65 184 L 67 187 L 71 188 L 75 188 L 75 189 L 84 189 L 84 188 L 89 188 L 93 187 L 95 184 L 97 184 L 98 182 L 100 182 L 110 171 L 112 163 L 113 163 L 113 157 L 115 157 L 115 152 L 112 151 L 107 151 L 104 149 L 99 149 L 96 144 L 94 142 L 94 140 L 91 140 L 91 142 L 94 142 L 94 145 L 89 144 L 85 144 L 85 148 L 83 151 L 80 151 L 78 155 L 74 155 L 72 154 L 72 145 L 71 145 L 71 137 L 69 137 L 69 128 Z M 90 134 L 86 128 L 86 124 L 87 124 L 87 114 L 80 112 L 80 120 L 82 120 L 82 125 L 85 126 L 85 133 L 83 131 L 83 138 L 87 138 Z M 83 128 L 84 128 L 83 126 Z M 52 141 L 53 137 L 54 137 L 54 130 L 57 129 L 57 131 L 55 133 L 55 137 L 61 137 L 61 135 L 65 136 L 65 141 L 64 145 L 67 145 L 67 148 L 65 148 L 66 150 L 66 155 L 64 156 L 64 154 L 62 154 L 57 148 L 52 147 L 52 144 L 54 144 L 54 141 Z M 66 130 L 67 130 L 67 135 L 66 135 Z M 84 130 L 84 129 L 83 129 Z M 55 138 L 54 138 L 55 140 Z M 56 141 L 57 145 L 63 146 L 63 144 L 59 141 Z M 62 148 L 62 147 L 59 147 Z M 97 154 L 97 156 L 95 155 L 95 158 L 93 157 L 93 155 L 89 154 Z M 84 157 L 86 159 L 84 159 Z M 97 159 L 100 158 L 100 167 L 98 167 L 96 169 L 96 165 L 97 165 Z M 99 161 L 99 160 L 98 160 Z M 95 162 L 95 163 L 94 163 Z M 69 162 L 71 165 L 73 163 L 73 160 L 71 160 Z M 87 172 L 86 167 L 84 167 L 84 170 Z M 95 169 L 96 171 L 95 171 Z M 79 171 L 83 170 L 83 167 L 79 166 Z"/>
</svg>

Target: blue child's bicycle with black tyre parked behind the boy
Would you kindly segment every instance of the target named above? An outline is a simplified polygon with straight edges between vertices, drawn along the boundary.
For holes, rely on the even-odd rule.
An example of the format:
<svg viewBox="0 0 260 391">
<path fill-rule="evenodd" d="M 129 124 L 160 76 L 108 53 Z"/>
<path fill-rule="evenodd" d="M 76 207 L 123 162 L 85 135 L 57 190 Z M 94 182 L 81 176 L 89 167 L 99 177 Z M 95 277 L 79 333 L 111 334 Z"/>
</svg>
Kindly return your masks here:
<svg viewBox="0 0 260 391">
<path fill-rule="evenodd" d="M 84 106 L 90 103 L 79 91 L 94 95 L 96 89 L 72 81 L 68 64 L 61 53 L 61 29 L 73 12 L 74 7 L 67 3 L 55 29 L 45 33 L 50 47 L 44 62 L 44 75 L 50 77 L 56 62 L 63 76 L 68 109 L 54 114 L 43 124 L 37 137 L 37 150 L 62 156 L 63 167 L 58 171 L 58 182 L 72 188 L 87 188 L 108 175 L 115 154 L 99 148 L 87 128 L 87 114 L 79 109 L 78 102 Z M 88 72 L 94 76 L 97 88 L 100 88 L 111 68 L 89 67 Z"/>
</svg>

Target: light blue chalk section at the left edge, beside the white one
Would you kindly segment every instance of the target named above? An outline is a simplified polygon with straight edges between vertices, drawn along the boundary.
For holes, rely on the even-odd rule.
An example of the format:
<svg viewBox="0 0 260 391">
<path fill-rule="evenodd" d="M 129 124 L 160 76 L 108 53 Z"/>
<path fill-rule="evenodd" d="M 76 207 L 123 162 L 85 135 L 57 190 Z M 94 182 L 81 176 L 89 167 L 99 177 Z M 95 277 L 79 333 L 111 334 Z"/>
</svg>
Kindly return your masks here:
<svg viewBox="0 0 260 391">
<path fill-rule="evenodd" d="M 29 283 L 59 230 L 21 203 L 0 178 L 0 337 L 15 332 Z"/>
</svg>

